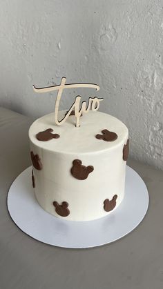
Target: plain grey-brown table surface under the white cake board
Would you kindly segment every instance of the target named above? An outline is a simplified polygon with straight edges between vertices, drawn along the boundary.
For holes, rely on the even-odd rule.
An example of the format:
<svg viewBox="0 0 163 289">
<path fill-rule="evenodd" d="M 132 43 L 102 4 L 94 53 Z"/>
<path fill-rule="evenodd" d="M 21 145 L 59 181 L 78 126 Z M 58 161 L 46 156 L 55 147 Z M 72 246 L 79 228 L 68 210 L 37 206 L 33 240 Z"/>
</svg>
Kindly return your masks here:
<svg viewBox="0 0 163 289">
<path fill-rule="evenodd" d="M 160 170 L 128 160 L 148 188 L 148 212 L 133 232 L 105 246 L 79 250 L 49 246 L 28 237 L 10 219 L 8 189 L 30 166 L 30 123 L 32 119 L 0 108 L 0 289 L 162 289 Z"/>
</svg>

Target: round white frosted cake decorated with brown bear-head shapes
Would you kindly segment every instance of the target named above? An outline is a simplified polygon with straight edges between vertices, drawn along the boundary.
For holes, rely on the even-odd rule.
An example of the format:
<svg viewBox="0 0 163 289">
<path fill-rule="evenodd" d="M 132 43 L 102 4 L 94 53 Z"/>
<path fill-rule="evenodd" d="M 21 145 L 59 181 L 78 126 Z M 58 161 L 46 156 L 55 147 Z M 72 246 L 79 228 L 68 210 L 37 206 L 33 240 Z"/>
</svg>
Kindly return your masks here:
<svg viewBox="0 0 163 289">
<path fill-rule="evenodd" d="M 63 119 L 66 111 L 59 112 Z M 115 117 L 90 111 L 75 127 L 54 113 L 29 130 L 32 186 L 39 205 L 55 217 L 89 221 L 108 215 L 124 198 L 128 129 Z"/>
</svg>

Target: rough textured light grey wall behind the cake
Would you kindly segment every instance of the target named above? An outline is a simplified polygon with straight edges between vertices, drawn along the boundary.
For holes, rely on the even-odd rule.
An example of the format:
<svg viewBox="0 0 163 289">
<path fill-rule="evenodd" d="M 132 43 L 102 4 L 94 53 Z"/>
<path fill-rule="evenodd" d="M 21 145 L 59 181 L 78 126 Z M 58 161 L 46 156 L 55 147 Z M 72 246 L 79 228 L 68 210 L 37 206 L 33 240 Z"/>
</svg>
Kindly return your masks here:
<svg viewBox="0 0 163 289">
<path fill-rule="evenodd" d="M 100 109 L 124 121 L 131 155 L 163 169 L 163 1 L 12 0 L 0 10 L 1 106 L 34 117 L 55 93 L 32 84 L 93 82 Z M 61 108 L 77 93 L 67 90 Z"/>
</svg>

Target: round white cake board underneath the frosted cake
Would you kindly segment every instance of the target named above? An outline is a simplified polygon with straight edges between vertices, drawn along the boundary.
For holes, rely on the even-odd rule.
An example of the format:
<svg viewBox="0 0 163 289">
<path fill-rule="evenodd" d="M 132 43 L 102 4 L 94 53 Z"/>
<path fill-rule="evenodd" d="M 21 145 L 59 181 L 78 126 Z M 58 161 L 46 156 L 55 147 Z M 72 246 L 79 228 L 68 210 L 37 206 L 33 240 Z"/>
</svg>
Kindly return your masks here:
<svg viewBox="0 0 163 289">
<path fill-rule="evenodd" d="M 116 210 L 95 221 L 57 219 L 37 203 L 31 170 L 32 167 L 21 172 L 12 183 L 8 192 L 8 210 L 23 232 L 52 246 L 89 248 L 111 243 L 137 227 L 148 209 L 148 191 L 144 181 L 127 166 L 125 197 Z"/>
</svg>

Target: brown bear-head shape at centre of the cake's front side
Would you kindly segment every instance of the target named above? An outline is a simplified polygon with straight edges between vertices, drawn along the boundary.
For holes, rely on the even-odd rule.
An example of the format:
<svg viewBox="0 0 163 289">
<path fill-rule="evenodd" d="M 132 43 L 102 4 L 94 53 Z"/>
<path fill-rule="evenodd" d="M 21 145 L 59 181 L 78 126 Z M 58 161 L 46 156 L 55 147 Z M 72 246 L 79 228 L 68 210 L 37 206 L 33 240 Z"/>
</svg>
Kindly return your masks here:
<svg viewBox="0 0 163 289">
<path fill-rule="evenodd" d="M 73 167 L 70 172 L 75 179 L 87 179 L 90 172 L 93 172 L 93 166 L 82 166 L 82 162 L 79 159 L 73 161 Z"/>
</svg>

